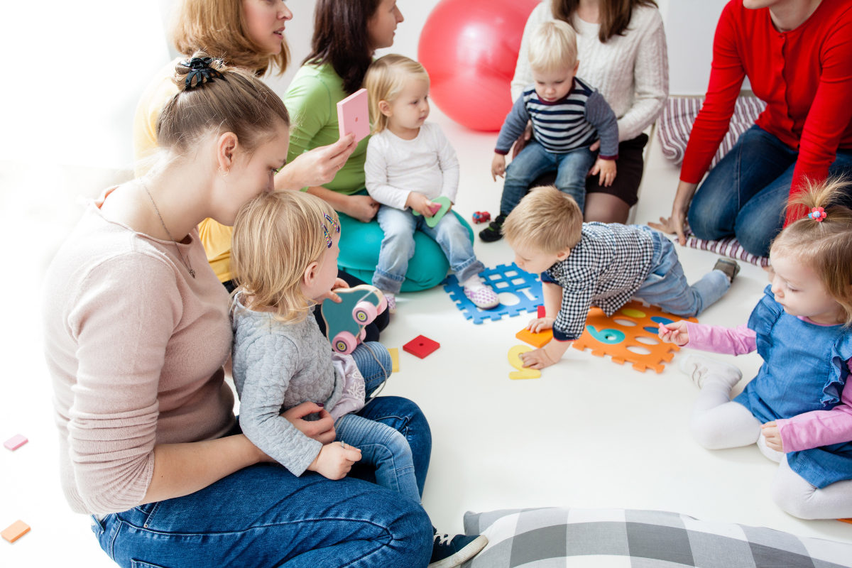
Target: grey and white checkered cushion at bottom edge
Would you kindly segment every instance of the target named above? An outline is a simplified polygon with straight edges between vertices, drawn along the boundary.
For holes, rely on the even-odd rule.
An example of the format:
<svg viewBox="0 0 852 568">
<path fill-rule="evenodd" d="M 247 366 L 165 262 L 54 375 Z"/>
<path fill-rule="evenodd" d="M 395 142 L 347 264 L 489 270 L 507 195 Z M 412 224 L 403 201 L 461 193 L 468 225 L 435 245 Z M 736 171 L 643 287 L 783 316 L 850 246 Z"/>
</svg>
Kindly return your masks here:
<svg viewBox="0 0 852 568">
<path fill-rule="evenodd" d="M 464 568 L 845 568 L 852 545 L 678 513 L 538 508 L 465 513 L 488 546 Z"/>
</svg>

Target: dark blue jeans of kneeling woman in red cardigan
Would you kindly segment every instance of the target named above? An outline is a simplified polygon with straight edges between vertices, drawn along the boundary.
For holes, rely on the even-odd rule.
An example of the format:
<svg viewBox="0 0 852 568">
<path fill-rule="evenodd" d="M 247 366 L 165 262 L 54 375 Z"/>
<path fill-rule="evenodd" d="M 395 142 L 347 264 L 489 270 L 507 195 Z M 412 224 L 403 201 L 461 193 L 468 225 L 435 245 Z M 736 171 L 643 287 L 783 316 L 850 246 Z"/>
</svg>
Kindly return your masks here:
<svg viewBox="0 0 852 568">
<path fill-rule="evenodd" d="M 711 169 L 689 206 L 698 238 L 736 236 L 752 255 L 769 255 L 784 227 L 798 152 L 755 125 Z M 838 149 L 830 175 L 852 175 L 852 151 Z"/>
</svg>

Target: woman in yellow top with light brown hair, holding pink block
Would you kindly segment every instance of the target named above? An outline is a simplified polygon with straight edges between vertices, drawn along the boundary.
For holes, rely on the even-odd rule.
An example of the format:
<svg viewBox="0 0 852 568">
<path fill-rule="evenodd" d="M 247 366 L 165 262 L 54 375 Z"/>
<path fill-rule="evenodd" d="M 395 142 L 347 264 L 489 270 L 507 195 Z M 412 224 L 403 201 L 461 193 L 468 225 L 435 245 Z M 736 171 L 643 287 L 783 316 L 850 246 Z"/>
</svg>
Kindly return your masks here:
<svg viewBox="0 0 852 568">
<path fill-rule="evenodd" d="M 262 76 L 269 67 L 285 72 L 289 50 L 284 38 L 285 22 L 293 14 L 283 0 L 180 0 L 170 39 L 181 57 L 204 50 L 230 66 L 243 67 Z M 135 175 L 141 177 L 157 153 L 157 120 L 165 104 L 177 94 L 171 77 L 178 60 L 157 73 L 139 100 L 133 123 Z M 320 186 L 334 179 L 356 145 L 347 136 L 329 146 L 317 147 L 295 159 L 275 175 L 275 189 Z M 151 159 L 147 159 L 151 158 Z M 210 267 L 228 291 L 231 283 L 231 227 L 206 219 L 199 236 Z"/>
</svg>

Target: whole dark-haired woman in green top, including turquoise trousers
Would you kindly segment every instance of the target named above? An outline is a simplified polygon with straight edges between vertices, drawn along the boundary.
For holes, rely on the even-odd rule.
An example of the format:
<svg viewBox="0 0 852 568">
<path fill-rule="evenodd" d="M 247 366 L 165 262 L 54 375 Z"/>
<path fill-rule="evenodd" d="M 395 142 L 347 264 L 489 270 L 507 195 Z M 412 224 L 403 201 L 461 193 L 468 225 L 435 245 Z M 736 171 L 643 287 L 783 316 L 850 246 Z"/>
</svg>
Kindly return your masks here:
<svg viewBox="0 0 852 568">
<path fill-rule="evenodd" d="M 284 97 L 296 118 L 290 130 L 288 161 L 302 152 L 337 141 L 340 136 L 337 103 L 361 88 L 373 54 L 376 49 L 394 44 L 394 31 L 401 21 L 396 0 L 317 2 L 311 55 L 296 72 Z M 372 221 L 379 204 L 367 195 L 364 183 L 369 139 L 368 136 L 360 141 L 334 180 L 307 188 L 308 193 L 324 199 L 342 214 L 338 266 L 348 276 L 367 282 L 376 270 L 384 236 L 378 223 Z M 440 284 L 449 268 L 440 246 L 425 233 L 416 232 L 414 242 L 416 252 L 408 263 L 404 292 Z M 380 329 L 383 327 L 383 321 L 377 320 L 377 324 Z"/>
</svg>

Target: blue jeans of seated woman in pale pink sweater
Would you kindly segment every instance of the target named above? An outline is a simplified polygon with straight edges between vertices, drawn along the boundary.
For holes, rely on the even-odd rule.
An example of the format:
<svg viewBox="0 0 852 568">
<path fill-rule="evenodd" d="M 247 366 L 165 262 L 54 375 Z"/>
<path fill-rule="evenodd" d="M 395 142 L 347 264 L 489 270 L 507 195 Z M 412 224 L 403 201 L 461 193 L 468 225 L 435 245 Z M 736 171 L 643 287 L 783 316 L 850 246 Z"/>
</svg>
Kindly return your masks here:
<svg viewBox="0 0 852 568">
<path fill-rule="evenodd" d="M 377 343 L 369 346 L 389 370 L 387 350 Z M 369 396 L 384 382 L 385 373 L 366 349 L 360 348 L 354 357 Z M 367 360 L 372 368 L 361 367 Z M 379 397 L 357 415 L 402 434 L 422 493 L 432 437 L 417 404 Z M 296 477 L 277 464 L 257 464 L 190 495 L 95 519 L 92 531 L 101 548 L 125 568 L 429 564 L 433 529 L 423 508 L 395 491 L 357 479 L 371 477 L 369 468 L 361 468 L 360 476 L 356 473 L 353 468 L 346 478 L 332 481 L 319 473 Z"/>
</svg>

